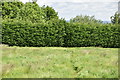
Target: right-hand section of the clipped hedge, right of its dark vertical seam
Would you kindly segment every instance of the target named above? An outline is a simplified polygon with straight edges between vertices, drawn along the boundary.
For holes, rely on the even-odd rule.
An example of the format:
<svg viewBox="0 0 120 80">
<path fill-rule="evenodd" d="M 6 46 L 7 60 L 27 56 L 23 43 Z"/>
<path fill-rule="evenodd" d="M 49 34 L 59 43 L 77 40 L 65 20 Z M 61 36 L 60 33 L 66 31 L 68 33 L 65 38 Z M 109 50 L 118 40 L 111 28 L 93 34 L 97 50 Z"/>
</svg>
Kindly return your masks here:
<svg viewBox="0 0 120 80">
<path fill-rule="evenodd" d="M 119 47 L 120 25 L 70 24 L 66 26 L 65 44 L 68 47 Z"/>
</svg>

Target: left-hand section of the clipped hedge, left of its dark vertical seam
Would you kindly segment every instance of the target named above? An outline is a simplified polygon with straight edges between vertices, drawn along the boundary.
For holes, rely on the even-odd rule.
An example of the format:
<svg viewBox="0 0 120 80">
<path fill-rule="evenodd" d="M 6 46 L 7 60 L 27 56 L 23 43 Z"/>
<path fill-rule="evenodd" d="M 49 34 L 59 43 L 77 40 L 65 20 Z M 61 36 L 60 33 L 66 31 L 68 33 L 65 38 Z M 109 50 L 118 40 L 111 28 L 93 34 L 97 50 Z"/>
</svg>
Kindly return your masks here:
<svg viewBox="0 0 120 80">
<path fill-rule="evenodd" d="M 11 46 L 63 46 L 65 35 L 63 23 L 63 20 L 34 24 L 7 20 L 2 24 L 2 41 Z"/>
</svg>

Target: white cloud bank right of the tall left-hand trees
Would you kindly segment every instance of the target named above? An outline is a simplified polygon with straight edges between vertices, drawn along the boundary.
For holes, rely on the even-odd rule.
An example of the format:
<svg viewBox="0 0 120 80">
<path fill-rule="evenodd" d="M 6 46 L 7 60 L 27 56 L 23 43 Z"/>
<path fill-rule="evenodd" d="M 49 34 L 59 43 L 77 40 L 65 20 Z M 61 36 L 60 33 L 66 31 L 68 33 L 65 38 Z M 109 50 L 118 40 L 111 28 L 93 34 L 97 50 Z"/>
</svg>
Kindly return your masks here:
<svg viewBox="0 0 120 80">
<path fill-rule="evenodd" d="M 110 16 L 117 11 L 116 2 L 84 2 L 84 3 L 53 3 L 61 18 L 69 20 L 76 15 L 95 15 L 97 19 L 110 21 Z"/>
</svg>

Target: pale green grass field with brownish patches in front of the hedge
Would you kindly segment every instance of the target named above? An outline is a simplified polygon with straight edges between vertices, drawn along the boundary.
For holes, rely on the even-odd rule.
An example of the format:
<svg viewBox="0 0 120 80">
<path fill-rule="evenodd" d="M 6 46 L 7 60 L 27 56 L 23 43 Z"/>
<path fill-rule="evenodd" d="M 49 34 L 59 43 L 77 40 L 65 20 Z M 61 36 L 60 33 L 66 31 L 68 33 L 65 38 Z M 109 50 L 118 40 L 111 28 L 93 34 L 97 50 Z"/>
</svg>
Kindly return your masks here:
<svg viewBox="0 0 120 80">
<path fill-rule="evenodd" d="M 3 78 L 118 78 L 118 49 L 2 46 Z"/>
</svg>

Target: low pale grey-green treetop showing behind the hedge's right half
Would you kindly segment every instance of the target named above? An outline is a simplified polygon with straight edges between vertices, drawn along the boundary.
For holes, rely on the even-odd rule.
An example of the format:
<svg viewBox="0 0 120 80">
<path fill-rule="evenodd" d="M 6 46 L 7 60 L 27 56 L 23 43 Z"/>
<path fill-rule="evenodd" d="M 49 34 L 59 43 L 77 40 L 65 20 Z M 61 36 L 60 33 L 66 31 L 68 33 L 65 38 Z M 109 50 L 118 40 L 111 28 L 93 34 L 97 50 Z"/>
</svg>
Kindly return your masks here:
<svg viewBox="0 0 120 80">
<path fill-rule="evenodd" d="M 70 22 L 74 23 L 102 23 L 101 20 L 96 20 L 94 16 L 78 15 L 75 18 L 70 19 Z"/>
</svg>

